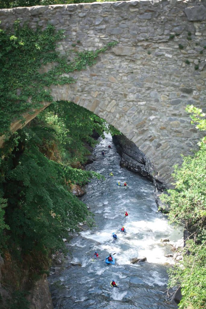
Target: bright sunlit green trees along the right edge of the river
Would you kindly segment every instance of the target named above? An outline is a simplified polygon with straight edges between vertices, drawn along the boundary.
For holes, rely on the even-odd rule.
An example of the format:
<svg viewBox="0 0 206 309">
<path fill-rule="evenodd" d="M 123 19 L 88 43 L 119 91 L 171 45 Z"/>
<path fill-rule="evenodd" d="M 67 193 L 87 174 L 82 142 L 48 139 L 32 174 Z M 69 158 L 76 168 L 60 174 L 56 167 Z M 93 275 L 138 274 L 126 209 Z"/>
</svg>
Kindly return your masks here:
<svg viewBox="0 0 206 309">
<path fill-rule="evenodd" d="M 197 129 L 206 130 L 201 109 L 191 105 L 187 112 Z M 170 204 L 170 222 L 184 223 L 188 235 L 183 260 L 170 269 L 169 287 L 181 286 L 181 309 L 206 308 L 206 137 L 199 146 L 194 156 L 183 157 L 182 166 L 175 167 L 175 188 L 162 196 Z"/>
</svg>

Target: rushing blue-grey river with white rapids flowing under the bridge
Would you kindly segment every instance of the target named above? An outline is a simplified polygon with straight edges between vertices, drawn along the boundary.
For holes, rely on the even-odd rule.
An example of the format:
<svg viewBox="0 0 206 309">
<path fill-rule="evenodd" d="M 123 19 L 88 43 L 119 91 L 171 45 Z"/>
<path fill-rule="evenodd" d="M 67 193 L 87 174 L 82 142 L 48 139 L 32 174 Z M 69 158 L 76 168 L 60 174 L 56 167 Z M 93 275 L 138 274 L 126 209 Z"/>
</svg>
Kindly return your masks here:
<svg viewBox="0 0 206 309">
<path fill-rule="evenodd" d="M 105 137 L 94 149 L 97 161 L 87 166 L 88 170 L 104 175 L 105 180 L 92 180 L 82 198 L 95 214 L 96 226 L 74 236 L 68 244 L 72 259 L 82 267 L 65 266 L 49 277 L 54 308 L 177 308 L 175 303 L 166 302 L 168 277 L 164 263 L 173 261 L 165 257 L 170 253 L 170 245 L 162 244 L 160 239 L 175 241 L 182 234 L 174 231 L 166 215 L 157 211 L 153 184 L 121 168 L 111 136 Z M 111 171 L 114 177 L 109 176 Z M 118 187 L 118 180 L 122 184 L 126 181 L 129 187 Z M 125 210 L 128 218 L 124 217 Z M 123 225 L 127 234 L 120 233 Z M 117 233 L 117 240 L 113 240 L 112 232 Z M 92 261 L 95 250 L 99 258 Z M 116 252 L 115 265 L 101 261 L 110 252 Z M 137 256 L 146 256 L 147 262 L 130 264 Z M 112 280 L 120 289 L 110 286 Z"/>
</svg>

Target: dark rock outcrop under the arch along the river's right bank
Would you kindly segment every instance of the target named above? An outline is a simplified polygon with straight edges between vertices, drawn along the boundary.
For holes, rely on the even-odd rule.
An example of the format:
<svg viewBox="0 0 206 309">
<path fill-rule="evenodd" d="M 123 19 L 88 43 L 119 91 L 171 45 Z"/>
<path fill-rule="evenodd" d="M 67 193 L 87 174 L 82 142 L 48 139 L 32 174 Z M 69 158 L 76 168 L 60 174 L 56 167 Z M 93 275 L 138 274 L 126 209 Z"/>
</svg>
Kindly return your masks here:
<svg viewBox="0 0 206 309">
<path fill-rule="evenodd" d="M 116 145 L 117 152 L 121 156 L 120 166 L 152 181 L 156 187 L 155 201 L 158 205 L 158 209 L 167 213 L 169 211 L 169 206 L 163 205 L 159 196 L 168 186 L 157 169 L 155 169 L 154 164 L 124 135 L 114 135 L 112 139 Z"/>
</svg>

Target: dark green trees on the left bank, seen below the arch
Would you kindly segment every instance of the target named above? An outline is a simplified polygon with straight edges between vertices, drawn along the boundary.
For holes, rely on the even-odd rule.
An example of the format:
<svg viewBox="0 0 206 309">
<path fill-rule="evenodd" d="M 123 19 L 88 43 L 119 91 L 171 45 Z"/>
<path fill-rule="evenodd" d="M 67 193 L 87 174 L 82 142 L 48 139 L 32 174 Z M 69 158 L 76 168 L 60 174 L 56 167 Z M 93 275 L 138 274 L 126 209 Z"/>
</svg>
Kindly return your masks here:
<svg viewBox="0 0 206 309">
<path fill-rule="evenodd" d="M 68 230 L 78 231 L 79 222 L 92 222 L 86 205 L 70 191 L 71 184 L 101 178 L 72 167 L 86 162 L 90 152 L 85 144 L 95 145 L 94 130 L 99 135 L 118 133 L 85 108 L 61 101 L 16 132 L 1 149 L 0 252 L 6 267 L 11 263 L 3 272 L 3 282 L 10 290 L 20 289 L 15 306 L 23 301 L 22 265 L 29 269 L 30 279 L 38 278 L 46 272 L 51 252 L 64 249 L 62 238 L 68 237 Z"/>
</svg>

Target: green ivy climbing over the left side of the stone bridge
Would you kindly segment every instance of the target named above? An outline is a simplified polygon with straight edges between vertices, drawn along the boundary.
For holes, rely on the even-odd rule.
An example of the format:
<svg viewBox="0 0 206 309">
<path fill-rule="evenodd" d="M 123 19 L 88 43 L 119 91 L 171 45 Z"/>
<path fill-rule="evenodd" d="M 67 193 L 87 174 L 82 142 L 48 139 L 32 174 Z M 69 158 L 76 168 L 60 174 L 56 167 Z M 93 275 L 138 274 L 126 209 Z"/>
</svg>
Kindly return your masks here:
<svg viewBox="0 0 206 309">
<path fill-rule="evenodd" d="M 112 42 L 95 52 L 77 52 L 70 61 L 56 51 L 57 41 L 62 38 L 63 31 L 55 32 L 52 25 L 43 31 L 40 28 L 33 30 L 26 25 L 20 27 L 17 21 L 12 33 L 0 30 L 1 135 L 9 134 L 14 118 L 23 121 L 23 112 L 39 108 L 43 101 L 53 101 L 49 86 L 75 82 L 73 78 L 62 77 L 63 73 L 69 74 L 74 70 L 86 69 L 87 65 L 92 66 L 99 53 L 117 44 Z M 47 73 L 40 73 L 42 65 L 48 62 L 57 65 Z"/>
</svg>

